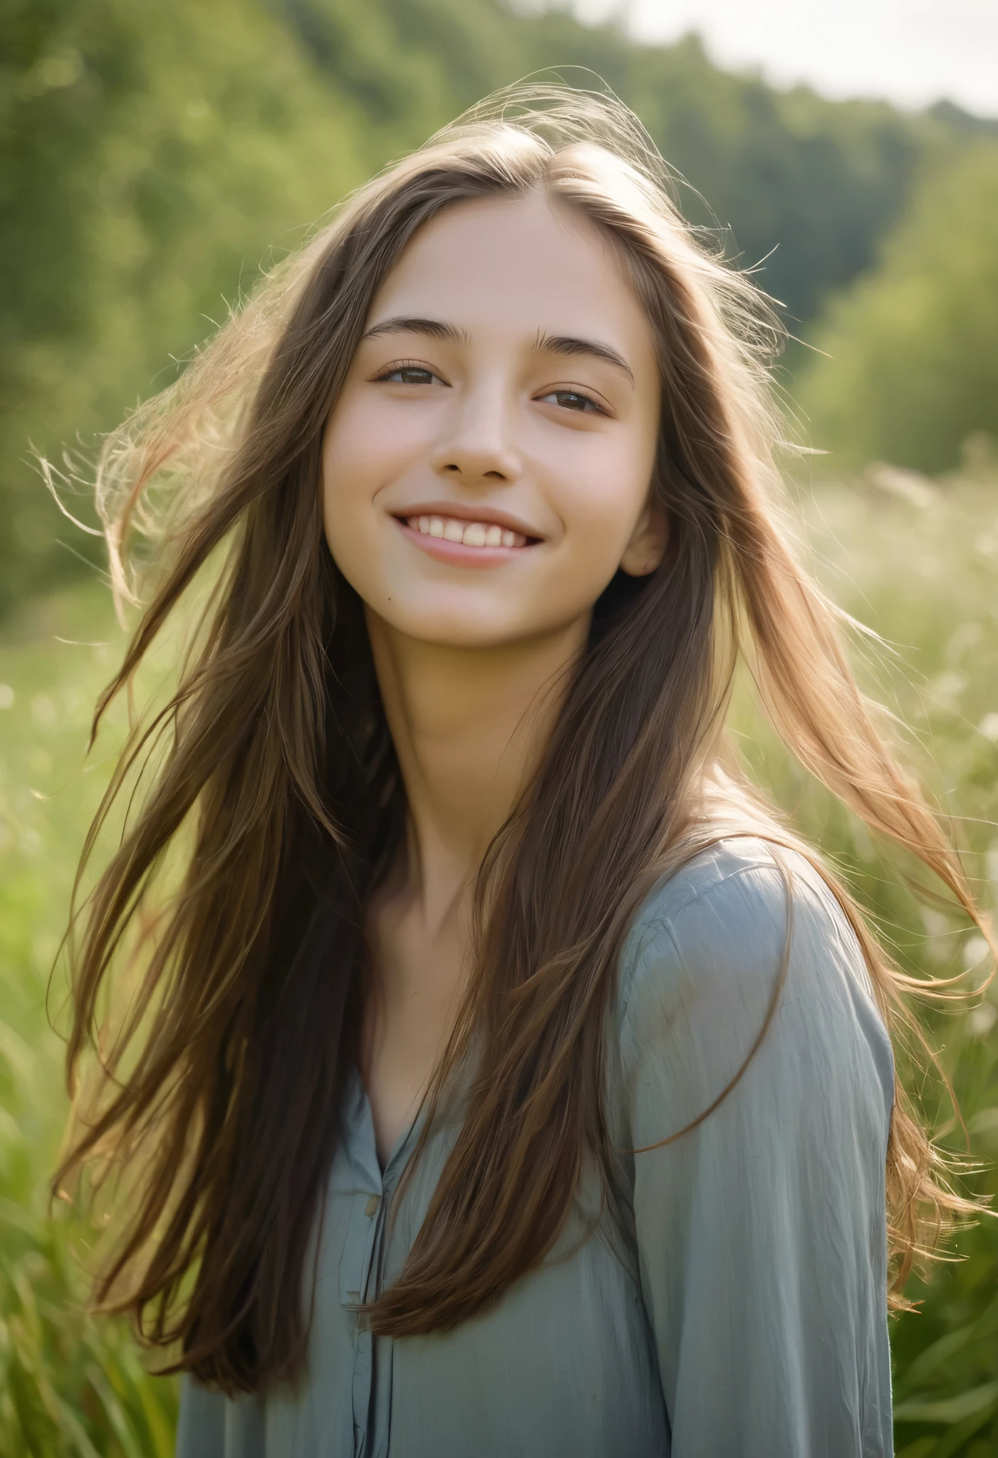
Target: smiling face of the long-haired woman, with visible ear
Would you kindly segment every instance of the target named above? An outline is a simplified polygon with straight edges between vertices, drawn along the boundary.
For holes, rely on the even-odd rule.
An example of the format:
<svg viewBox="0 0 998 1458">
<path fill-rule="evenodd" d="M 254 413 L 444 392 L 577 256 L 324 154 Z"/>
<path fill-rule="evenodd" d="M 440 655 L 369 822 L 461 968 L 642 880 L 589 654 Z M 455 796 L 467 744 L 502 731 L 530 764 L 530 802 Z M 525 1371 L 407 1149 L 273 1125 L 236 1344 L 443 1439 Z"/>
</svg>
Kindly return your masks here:
<svg viewBox="0 0 998 1458">
<path fill-rule="evenodd" d="M 659 385 L 607 242 L 543 194 L 457 204 L 376 295 L 322 446 L 325 537 L 407 637 L 512 644 L 578 625 L 664 551 Z"/>
</svg>

